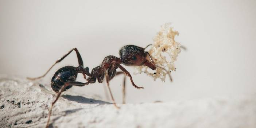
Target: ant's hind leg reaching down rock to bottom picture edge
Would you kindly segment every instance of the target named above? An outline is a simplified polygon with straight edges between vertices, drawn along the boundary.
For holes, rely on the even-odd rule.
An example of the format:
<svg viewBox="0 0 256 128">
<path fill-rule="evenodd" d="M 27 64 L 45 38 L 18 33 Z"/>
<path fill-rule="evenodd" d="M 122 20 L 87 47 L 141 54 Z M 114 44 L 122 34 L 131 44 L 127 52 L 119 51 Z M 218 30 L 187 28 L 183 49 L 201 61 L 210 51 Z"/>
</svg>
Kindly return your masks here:
<svg viewBox="0 0 256 128">
<path fill-rule="evenodd" d="M 76 82 L 76 81 L 72 81 L 72 82 L 66 82 L 61 89 L 59 90 L 56 99 L 51 103 L 51 107 L 49 109 L 49 116 L 48 116 L 48 120 L 47 120 L 47 124 L 46 124 L 46 128 L 49 127 L 49 122 L 50 122 L 50 117 L 51 117 L 51 111 L 53 109 L 53 105 L 57 102 L 57 100 L 59 99 L 59 97 L 61 96 L 61 93 L 65 90 L 65 88 L 69 85 L 73 85 L 73 86 L 85 86 L 88 85 L 89 83 L 82 83 L 82 82 Z"/>
</svg>

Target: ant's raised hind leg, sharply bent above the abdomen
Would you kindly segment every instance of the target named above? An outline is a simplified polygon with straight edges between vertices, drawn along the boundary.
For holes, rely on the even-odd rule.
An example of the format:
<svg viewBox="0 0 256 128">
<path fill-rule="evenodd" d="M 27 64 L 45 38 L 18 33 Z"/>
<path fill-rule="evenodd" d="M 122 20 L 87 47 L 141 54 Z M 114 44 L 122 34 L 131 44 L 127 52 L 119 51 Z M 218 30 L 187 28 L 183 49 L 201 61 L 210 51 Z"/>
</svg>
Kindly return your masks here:
<svg viewBox="0 0 256 128">
<path fill-rule="evenodd" d="M 50 67 L 50 69 L 48 69 L 48 70 L 46 71 L 46 73 L 44 73 L 42 76 L 36 77 L 36 78 L 27 77 L 27 79 L 35 80 L 35 79 L 39 79 L 39 78 L 44 77 L 44 76 L 53 68 L 53 66 L 56 65 L 56 63 L 61 62 L 61 61 L 62 61 L 65 57 L 67 57 L 67 55 L 69 55 L 73 50 L 75 50 L 75 52 L 77 53 L 77 59 L 78 59 L 78 64 L 79 64 L 79 66 L 84 67 L 84 63 L 83 63 L 83 60 L 82 60 L 81 55 L 79 54 L 77 48 L 74 48 L 74 49 L 70 50 L 67 54 L 65 54 L 62 58 L 58 59 L 58 60 Z"/>
</svg>

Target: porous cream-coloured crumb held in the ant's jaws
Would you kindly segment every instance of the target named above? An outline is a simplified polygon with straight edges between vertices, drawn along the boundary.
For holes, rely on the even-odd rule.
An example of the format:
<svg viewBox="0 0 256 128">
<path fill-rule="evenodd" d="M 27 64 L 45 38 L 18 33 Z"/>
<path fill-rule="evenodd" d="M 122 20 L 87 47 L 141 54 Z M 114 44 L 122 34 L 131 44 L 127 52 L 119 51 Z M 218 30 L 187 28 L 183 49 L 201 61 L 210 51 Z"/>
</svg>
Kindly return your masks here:
<svg viewBox="0 0 256 128">
<path fill-rule="evenodd" d="M 137 66 L 135 67 L 135 74 L 144 72 L 154 78 L 154 80 L 160 78 L 162 81 L 165 81 L 168 73 L 176 71 L 174 62 L 177 60 L 179 53 L 181 53 L 181 43 L 175 41 L 176 35 L 178 36 L 179 32 L 173 29 L 171 23 L 162 25 L 161 30 L 153 39 L 154 43 L 152 44 L 151 49 L 148 51 L 155 64 L 163 68 L 167 67 L 168 72 L 158 67 L 156 68 L 156 71 L 152 72 L 148 71 L 149 67 L 147 66 Z M 166 55 L 168 55 L 170 59 L 167 59 Z"/>
</svg>

